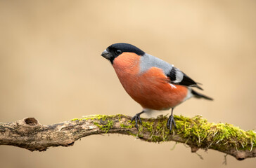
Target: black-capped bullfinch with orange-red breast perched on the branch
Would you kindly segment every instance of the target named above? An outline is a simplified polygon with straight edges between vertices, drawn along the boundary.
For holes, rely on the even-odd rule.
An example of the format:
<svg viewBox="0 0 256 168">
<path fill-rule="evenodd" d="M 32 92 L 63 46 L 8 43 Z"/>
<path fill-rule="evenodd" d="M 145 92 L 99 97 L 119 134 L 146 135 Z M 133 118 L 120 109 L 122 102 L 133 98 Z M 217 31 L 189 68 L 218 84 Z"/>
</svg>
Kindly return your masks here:
<svg viewBox="0 0 256 168">
<path fill-rule="evenodd" d="M 132 44 L 114 43 L 108 46 L 101 56 L 110 61 L 124 90 L 143 109 L 131 120 L 135 120 L 137 130 L 138 121 L 142 125 L 142 113 L 172 109 L 167 120 L 167 128 L 171 132 L 172 125 L 176 127 L 173 117 L 176 106 L 191 97 L 213 100 L 194 90 L 203 88 L 173 64 L 149 55 Z"/>
</svg>

